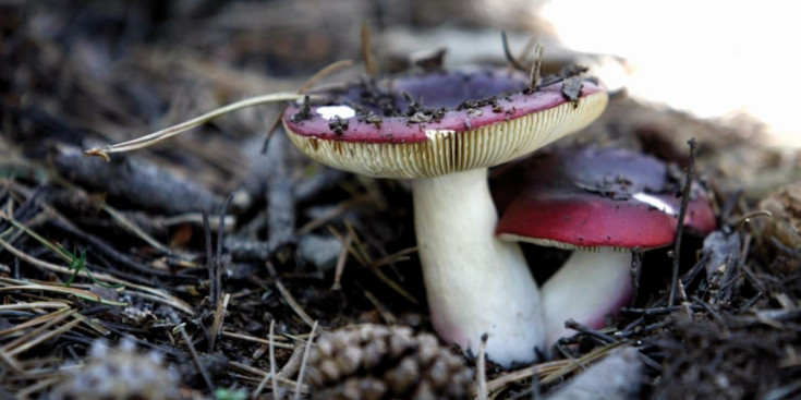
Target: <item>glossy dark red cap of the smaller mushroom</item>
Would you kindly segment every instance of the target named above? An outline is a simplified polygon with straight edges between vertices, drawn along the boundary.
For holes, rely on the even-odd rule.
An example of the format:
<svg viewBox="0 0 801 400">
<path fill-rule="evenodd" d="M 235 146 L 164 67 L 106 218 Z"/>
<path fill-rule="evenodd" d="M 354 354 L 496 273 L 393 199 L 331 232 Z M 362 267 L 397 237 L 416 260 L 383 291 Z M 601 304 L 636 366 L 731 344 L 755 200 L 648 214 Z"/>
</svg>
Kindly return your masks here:
<svg viewBox="0 0 801 400">
<path fill-rule="evenodd" d="M 527 161 L 526 181 L 496 233 L 573 247 L 654 249 L 676 235 L 681 197 L 659 160 L 626 149 L 572 149 Z M 691 194 L 684 227 L 715 229 L 708 199 Z"/>
</svg>

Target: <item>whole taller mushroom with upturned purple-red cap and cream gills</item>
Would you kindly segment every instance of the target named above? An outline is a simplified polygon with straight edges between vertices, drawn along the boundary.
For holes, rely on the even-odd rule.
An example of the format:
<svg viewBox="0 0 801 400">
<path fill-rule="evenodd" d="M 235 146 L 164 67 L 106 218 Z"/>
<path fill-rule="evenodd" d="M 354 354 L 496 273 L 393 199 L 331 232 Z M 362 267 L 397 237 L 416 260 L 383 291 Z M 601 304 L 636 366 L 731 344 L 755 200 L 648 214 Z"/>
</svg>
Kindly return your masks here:
<svg viewBox="0 0 801 400">
<path fill-rule="evenodd" d="M 495 238 L 487 168 L 595 120 L 607 95 L 592 82 L 578 83 L 580 96 L 571 98 L 561 83 L 530 90 L 527 76 L 506 69 L 364 80 L 317 93 L 324 100 L 291 105 L 283 123 L 292 143 L 317 161 L 412 180 L 435 329 L 469 353 L 488 334 L 488 356 L 510 366 L 536 359 L 542 311 L 519 245 Z"/>
</svg>

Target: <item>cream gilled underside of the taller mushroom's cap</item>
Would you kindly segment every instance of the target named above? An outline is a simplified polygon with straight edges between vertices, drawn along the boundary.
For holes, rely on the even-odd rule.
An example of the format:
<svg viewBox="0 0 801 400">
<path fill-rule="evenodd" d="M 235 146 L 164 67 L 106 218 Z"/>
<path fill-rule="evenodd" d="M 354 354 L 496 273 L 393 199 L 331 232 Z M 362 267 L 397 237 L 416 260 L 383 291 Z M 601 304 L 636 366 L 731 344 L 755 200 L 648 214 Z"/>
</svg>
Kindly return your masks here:
<svg viewBox="0 0 801 400">
<path fill-rule="evenodd" d="M 536 150 L 588 125 L 606 108 L 599 92 L 524 117 L 454 132 L 426 131 L 416 143 L 354 143 L 295 134 L 289 138 L 307 156 L 329 167 L 376 178 L 430 178 L 493 167 Z"/>
</svg>

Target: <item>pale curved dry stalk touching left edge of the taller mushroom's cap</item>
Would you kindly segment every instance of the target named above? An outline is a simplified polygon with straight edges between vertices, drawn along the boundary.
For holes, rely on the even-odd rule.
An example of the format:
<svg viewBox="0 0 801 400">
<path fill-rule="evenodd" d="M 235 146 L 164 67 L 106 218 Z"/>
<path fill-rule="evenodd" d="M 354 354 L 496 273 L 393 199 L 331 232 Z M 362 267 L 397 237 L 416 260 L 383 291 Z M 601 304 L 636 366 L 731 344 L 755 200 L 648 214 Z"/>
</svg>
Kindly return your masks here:
<svg viewBox="0 0 801 400">
<path fill-rule="evenodd" d="M 195 126 L 202 125 L 208 121 L 211 121 L 213 119 L 217 117 L 223 116 L 232 111 L 236 111 L 236 110 L 247 108 L 247 107 L 253 107 L 253 106 L 260 106 L 260 105 L 268 104 L 268 102 L 300 100 L 302 98 L 303 98 L 302 95 L 294 94 L 294 93 L 274 93 L 269 95 L 246 98 L 244 100 L 240 100 L 240 101 L 230 104 L 228 106 L 220 107 L 201 117 L 193 118 L 189 121 L 179 123 L 178 125 L 173 125 L 173 126 L 163 129 L 161 131 L 154 132 L 149 135 L 145 135 L 145 136 L 135 138 L 133 141 L 118 143 L 116 145 L 90 148 L 84 151 L 84 154 L 86 154 L 87 156 L 100 157 L 104 160 L 108 161 L 110 159 L 109 154 L 111 153 L 124 153 L 124 151 L 131 151 L 131 150 L 135 150 L 139 148 L 153 146 L 156 143 L 159 143 L 163 140 L 172 137 L 179 133 L 189 131 Z"/>
</svg>

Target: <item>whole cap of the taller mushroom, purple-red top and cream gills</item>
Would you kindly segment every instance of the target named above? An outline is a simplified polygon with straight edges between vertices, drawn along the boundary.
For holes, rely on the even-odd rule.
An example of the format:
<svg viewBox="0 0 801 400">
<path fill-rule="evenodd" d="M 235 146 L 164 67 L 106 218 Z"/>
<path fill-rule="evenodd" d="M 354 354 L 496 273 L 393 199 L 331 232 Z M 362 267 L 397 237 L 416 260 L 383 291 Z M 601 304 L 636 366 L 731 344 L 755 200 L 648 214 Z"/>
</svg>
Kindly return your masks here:
<svg viewBox="0 0 801 400">
<path fill-rule="evenodd" d="M 608 100 L 567 77 L 537 90 L 487 69 L 364 80 L 314 94 L 283 114 L 290 141 L 329 167 L 376 178 L 433 178 L 494 167 L 594 121 Z"/>
</svg>

